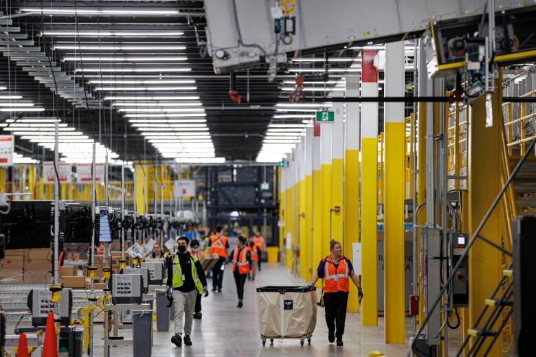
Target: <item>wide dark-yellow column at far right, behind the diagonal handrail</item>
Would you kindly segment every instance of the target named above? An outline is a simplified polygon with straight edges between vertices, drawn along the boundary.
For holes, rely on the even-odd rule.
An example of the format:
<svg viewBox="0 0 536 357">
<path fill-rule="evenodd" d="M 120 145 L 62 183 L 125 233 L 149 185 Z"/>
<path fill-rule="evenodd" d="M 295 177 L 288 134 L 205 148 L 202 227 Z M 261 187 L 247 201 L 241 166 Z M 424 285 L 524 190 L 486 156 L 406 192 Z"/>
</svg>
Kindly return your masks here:
<svg viewBox="0 0 536 357">
<path fill-rule="evenodd" d="M 469 166 L 469 236 L 472 237 L 480 222 L 495 199 L 502 185 L 500 184 L 500 125 L 501 111 L 501 77 L 495 81 L 493 94 L 493 126 L 486 128 L 485 97 L 478 98 L 471 105 L 469 116 L 469 146 L 467 150 Z M 500 209 L 495 209 L 489 216 L 480 234 L 501 245 Z M 478 315 L 484 308 L 484 300 L 488 299 L 501 277 L 500 252 L 477 240 L 469 251 L 469 325 L 473 326 Z M 489 310 L 482 317 L 487 321 Z M 498 329 L 499 321 L 490 330 Z M 464 331 L 466 334 L 467 331 Z M 471 338 L 471 340 L 473 340 Z M 489 356 L 502 356 L 501 338 L 493 345 Z M 487 338 L 481 351 L 489 346 L 491 338 Z M 471 341 L 472 343 L 472 341 Z"/>
</svg>

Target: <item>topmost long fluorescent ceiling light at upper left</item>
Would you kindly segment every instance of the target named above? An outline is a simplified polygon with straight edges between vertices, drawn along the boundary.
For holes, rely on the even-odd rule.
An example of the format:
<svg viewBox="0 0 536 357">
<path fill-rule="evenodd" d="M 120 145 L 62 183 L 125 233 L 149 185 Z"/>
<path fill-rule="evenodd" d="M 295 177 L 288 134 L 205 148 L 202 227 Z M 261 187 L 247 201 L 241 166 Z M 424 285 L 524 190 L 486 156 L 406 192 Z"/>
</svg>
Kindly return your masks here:
<svg viewBox="0 0 536 357">
<path fill-rule="evenodd" d="M 118 15 L 118 16 L 161 16 L 188 14 L 179 10 L 157 10 L 157 8 L 21 8 L 21 12 L 37 12 L 39 14 L 80 14 L 80 15 Z"/>
</svg>

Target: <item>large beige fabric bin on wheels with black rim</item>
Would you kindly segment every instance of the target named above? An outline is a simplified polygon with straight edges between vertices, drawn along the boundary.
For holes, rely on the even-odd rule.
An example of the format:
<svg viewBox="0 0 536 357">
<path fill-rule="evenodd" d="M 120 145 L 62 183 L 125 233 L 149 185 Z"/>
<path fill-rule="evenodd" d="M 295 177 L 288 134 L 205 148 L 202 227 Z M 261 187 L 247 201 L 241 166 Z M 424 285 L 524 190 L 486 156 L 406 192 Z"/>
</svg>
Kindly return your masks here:
<svg viewBox="0 0 536 357">
<path fill-rule="evenodd" d="M 257 288 L 258 330 L 263 345 L 274 338 L 298 338 L 311 343 L 316 326 L 316 288 L 265 286 Z"/>
</svg>

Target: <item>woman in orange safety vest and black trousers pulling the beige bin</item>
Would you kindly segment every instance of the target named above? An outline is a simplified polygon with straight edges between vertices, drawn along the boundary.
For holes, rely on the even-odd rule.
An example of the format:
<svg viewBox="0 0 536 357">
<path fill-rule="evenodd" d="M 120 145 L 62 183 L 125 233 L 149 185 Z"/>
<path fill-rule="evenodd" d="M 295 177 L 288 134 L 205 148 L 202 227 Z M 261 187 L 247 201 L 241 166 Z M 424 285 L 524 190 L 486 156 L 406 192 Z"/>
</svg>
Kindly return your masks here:
<svg viewBox="0 0 536 357">
<path fill-rule="evenodd" d="M 310 286 L 316 281 L 324 279 L 324 308 L 326 308 L 326 324 L 328 325 L 328 340 L 333 343 L 337 338 L 337 346 L 342 346 L 344 323 L 346 321 L 346 306 L 348 305 L 348 292 L 352 279 L 357 286 L 359 303 L 363 298 L 361 284 L 355 275 L 352 263 L 342 255 L 342 246 L 336 240 L 329 244 L 330 255 L 322 258 Z M 335 330 L 336 329 L 336 330 Z"/>
</svg>

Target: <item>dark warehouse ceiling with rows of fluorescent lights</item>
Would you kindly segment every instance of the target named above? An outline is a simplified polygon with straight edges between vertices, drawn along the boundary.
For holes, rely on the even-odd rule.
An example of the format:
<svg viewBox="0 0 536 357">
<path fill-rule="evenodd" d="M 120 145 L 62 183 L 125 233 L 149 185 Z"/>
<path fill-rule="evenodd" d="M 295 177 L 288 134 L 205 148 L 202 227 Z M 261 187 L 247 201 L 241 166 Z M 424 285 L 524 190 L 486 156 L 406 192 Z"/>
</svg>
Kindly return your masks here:
<svg viewBox="0 0 536 357">
<path fill-rule="evenodd" d="M 153 123 L 168 120 L 174 124 L 158 124 L 163 126 L 158 135 L 166 135 L 167 130 L 178 130 L 175 135 L 190 130 L 191 135 L 192 128 L 175 129 L 188 119 L 197 119 L 199 130 L 204 130 L 197 134 L 209 135 L 209 139 L 185 141 L 185 146 L 210 151 L 213 145 L 214 157 L 254 160 L 270 123 L 302 122 L 299 117 L 273 117 L 275 104 L 287 102 L 293 89 L 296 73 L 289 67 L 322 69 L 326 65 L 322 60 L 289 60 L 280 66 L 274 82 L 267 79 L 267 66 L 235 71 L 236 91 L 242 95 L 242 103 L 236 104 L 229 95 L 230 73 L 214 74 L 211 58 L 198 46 L 206 41 L 203 1 L 10 1 L 9 8 L 4 3 L 1 10 L 4 15 L 10 14 L 11 21 L 0 19 L 0 85 L 7 87 L 3 92 L 21 95 L 21 102 L 43 111 L 0 112 L 0 123 L 13 130 L 12 126 L 19 123 L 16 119 L 58 116 L 68 130 L 76 130 L 88 140 L 96 139 L 103 150 L 108 148 L 114 158 L 124 161 L 174 159 L 173 152 L 161 146 L 157 150 L 157 144 L 142 135 L 143 130 L 145 126 L 159 130 Z M 302 57 L 355 58 L 358 52 L 343 49 Z M 328 65 L 345 69 L 351 63 L 334 61 Z M 321 78 L 322 74 L 306 73 L 306 84 L 317 82 L 320 84 L 311 85 L 329 89 L 333 87 L 331 82 L 339 79 L 329 78 L 330 84 L 324 84 L 327 78 Z M 306 93 L 309 102 L 314 101 L 313 93 L 320 97 L 326 94 Z M 174 99 L 160 99 L 162 96 Z M 121 102 L 135 101 L 137 106 L 129 106 L 130 111 L 120 111 L 126 110 Z M 183 106 L 179 106 L 181 103 Z M 183 117 L 189 109 L 189 114 L 200 116 Z M 160 116 L 145 116 L 155 113 Z M 12 124 L 5 124 L 6 119 Z M 143 120 L 145 124 L 139 124 Z M 38 146 L 38 140 L 21 137 L 16 135 L 17 152 L 33 159 L 52 159 L 52 150 Z M 76 148 L 60 151 L 69 157 L 69 150 Z"/>
</svg>

